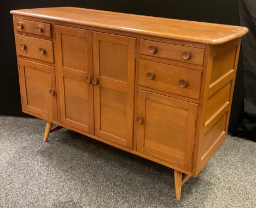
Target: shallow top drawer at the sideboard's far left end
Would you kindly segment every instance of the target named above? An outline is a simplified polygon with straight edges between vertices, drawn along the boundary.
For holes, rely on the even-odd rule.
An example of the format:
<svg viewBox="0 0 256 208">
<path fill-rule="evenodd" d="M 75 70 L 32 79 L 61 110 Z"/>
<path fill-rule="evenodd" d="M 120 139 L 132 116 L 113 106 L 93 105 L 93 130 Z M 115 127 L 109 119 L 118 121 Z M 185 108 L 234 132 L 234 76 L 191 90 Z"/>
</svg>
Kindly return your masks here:
<svg viewBox="0 0 256 208">
<path fill-rule="evenodd" d="M 13 19 L 13 26 L 16 31 L 51 37 L 51 25 L 49 23 Z"/>
</svg>

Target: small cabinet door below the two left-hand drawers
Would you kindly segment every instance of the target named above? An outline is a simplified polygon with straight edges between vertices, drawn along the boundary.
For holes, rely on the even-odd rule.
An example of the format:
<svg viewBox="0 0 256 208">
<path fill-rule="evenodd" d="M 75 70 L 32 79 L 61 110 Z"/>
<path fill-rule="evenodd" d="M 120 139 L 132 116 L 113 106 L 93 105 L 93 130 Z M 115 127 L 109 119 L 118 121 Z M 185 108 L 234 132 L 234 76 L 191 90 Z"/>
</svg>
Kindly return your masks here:
<svg viewBox="0 0 256 208">
<path fill-rule="evenodd" d="M 57 120 L 53 66 L 18 59 L 22 109 L 39 118 Z"/>
</svg>

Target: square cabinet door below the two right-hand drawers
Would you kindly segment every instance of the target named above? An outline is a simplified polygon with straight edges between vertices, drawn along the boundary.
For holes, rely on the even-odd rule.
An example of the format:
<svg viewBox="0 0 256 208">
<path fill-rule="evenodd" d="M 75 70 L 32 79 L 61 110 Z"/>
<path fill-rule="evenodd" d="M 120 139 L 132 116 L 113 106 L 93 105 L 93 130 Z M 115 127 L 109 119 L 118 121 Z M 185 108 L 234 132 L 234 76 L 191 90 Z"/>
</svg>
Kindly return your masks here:
<svg viewBox="0 0 256 208">
<path fill-rule="evenodd" d="M 197 105 L 139 90 L 137 151 L 191 170 Z"/>
</svg>

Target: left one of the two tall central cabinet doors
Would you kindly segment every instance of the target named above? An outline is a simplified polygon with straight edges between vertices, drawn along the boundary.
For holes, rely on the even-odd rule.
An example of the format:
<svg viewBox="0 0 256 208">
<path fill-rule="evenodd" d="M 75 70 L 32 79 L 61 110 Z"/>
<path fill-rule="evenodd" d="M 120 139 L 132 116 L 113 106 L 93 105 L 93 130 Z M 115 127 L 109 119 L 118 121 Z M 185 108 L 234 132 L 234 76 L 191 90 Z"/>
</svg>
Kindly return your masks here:
<svg viewBox="0 0 256 208">
<path fill-rule="evenodd" d="M 55 33 L 61 122 L 94 133 L 91 31 L 55 26 Z"/>
</svg>

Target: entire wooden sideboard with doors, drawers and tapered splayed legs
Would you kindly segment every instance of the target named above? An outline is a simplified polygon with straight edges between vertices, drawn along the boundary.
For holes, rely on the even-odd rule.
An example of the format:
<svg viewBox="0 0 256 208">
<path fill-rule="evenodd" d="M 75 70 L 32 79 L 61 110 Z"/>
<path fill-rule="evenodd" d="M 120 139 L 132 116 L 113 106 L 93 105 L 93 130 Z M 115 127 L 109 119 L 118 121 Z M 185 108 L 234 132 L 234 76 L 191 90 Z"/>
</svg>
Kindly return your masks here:
<svg viewBox="0 0 256 208">
<path fill-rule="evenodd" d="M 22 111 L 174 169 L 226 138 L 245 27 L 61 7 L 14 10 Z M 57 129 L 51 129 L 57 124 Z"/>
</svg>

